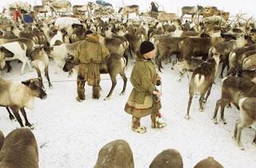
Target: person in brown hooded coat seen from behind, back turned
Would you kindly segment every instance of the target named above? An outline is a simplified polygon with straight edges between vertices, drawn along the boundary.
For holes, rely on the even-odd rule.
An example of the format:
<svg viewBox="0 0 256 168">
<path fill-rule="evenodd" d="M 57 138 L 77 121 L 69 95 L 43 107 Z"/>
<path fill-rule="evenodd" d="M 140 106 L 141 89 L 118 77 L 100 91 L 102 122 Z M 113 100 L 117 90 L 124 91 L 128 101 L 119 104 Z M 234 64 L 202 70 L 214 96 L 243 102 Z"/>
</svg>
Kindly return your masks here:
<svg viewBox="0 0 256 168">
<path fill-rule="evenodd" d="M 81 102 L 86 99 L 85 84 L 93 86 L 93 98 L 100 97 L 100 72 L 99 65 L 110 57 L 110 52 L 105 45 L 99 42 L 97 33 L 86 35 L 86 40 L 82 41 L 77 48 L 77 54 L 74 62 L 79 64 L 78 69 L 78 96 L 77 100 Z"/>
</svg>

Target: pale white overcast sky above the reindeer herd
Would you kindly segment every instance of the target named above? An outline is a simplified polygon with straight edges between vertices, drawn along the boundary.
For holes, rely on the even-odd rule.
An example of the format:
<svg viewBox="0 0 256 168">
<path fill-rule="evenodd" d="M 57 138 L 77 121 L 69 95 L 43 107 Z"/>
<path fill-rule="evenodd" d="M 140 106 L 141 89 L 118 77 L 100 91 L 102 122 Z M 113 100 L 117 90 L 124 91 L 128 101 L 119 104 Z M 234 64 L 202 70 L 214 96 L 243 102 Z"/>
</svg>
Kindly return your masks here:
<svg viewBox="0 0 256 168">
<path fill-rule="evenodd" d="M 32 5 L 40 5 L 41 0 L 19 0 L 22 2 L 30 2 Z M 150 2 L 152 0 L 123 0 L 125 5 L 134 5 L 137 4 L 140 6 L 141 11 L 149 10 Z M 2 11 L 2 6 L 6 6 L 7 3 L 15 2 L 15 0 L 1 0 L 0 9 Z M 72 6 L 85 4 L 87 2 L 95 2 L 90 0 L 70 0 Z M 114 6 L 122 6 L 122 0 L 106 0 L 106 2 L 112 3 Z M 182 6 L 217 6 L 219 10 L 230 11 L 231 14 L 238 14 L 240 11 L 242 13 L 247 13 L 247 16 L 254 15 L 256 17 L 256 10 L 254 5 L 256 4 L 255 0 L 154 0 L 160 6 L 160 10 L 166 10 L 167 12 L 174 12 L 181 14 Z"/>
</svg>

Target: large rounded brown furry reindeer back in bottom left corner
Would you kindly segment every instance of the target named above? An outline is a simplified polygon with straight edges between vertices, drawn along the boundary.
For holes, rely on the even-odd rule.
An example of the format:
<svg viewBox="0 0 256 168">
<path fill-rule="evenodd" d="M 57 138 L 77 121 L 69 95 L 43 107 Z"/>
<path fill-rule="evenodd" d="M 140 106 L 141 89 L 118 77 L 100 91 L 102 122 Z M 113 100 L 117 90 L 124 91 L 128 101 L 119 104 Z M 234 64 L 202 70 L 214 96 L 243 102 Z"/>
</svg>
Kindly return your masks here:
<svg viewBox="0 0 256 168">
<path fill-rule="evenodd" d="M 0 139 L 4 139 L 1 131 Z M 38 168 L 38 144 L 30 129 L 18 128 L 2 144 L 0 140 L 0 167 Z"/>
</svg>

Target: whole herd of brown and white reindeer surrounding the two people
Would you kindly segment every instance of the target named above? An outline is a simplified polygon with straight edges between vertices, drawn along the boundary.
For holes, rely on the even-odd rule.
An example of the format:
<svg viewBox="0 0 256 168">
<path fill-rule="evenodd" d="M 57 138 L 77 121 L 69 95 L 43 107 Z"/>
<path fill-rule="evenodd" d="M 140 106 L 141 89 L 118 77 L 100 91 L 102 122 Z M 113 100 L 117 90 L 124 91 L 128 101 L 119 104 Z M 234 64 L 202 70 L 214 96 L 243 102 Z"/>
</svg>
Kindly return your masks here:
<svg viewBox="0 0 256 168">
<path fill-rule="evenodd" d="M 230 20 L 228 12 L 220 11 L 214 6 L 182 7 L 182 17 L 185 14 L 192 16 L 185 23 L 182 17 L 178 18 L 174 13 L 139 13 L 137 5 L 123 6 L 118 13 L 110 6 L 98 6 L 94 2 L 73 6 L 73 13 L 68 1 L 42 1 L 42 6 L 34 6 L 33 10 L 26 2 L 20 2 L 16 7 L 30 11 L 34 23 L 11 21 L 11 24 L 0 25 L 0 68 L 3 72 L 11 72 L 11 62 L 18 60 L 22 62 L 21 74 L 25 73 L 27 64 L 31 71 L 36 70 L 38 77 L 20 84 L 0 77 L 0 106 L 6 107 L 10 119 L 16 118 L 21 127 L 24 124 L 19 111 L 25 119 L 25 126 L 33 128 L 27 119 L 25 107 L 33 108 L 35 97 L 46 99 L 42 73 L 46 76 L 49 88 L 52 87 L 48 72 L 50 60 L 71 73 L 70 69 L 74 66 L 70 66 L 70 62 L 74 59 L 76 47 L 85 40 L 86 33 L 92 31 L 98 33 L 100 42 L 106 45 L 111 55 L 101 64 L 101 72 L 109 73 L 112 82 L 106 100 L 110 99 L 117 84 L 118 74 L 124 81 L 122 93 L 126 91 L 126 64 L 128 58 L 136 57 L 142 41 L 154 43 L 154 61 L 160 71 L 162 61 L 174 60 L 172 68 L 178 71 L 180 80 L 184 73 L 192 73 L 186 119 L 190 119 L 190 105 L 196 93 L 200 94 L 199 110 L 204 110 L 218 76 L 218 65 L 222 63 L 220 77 L 225 76 L 223 72 L 226 67 L 227 73 L 222 81 L 222 94 L 216 102 L 213 121 L 218 123 L 218 108 L 221 107 L 220 121 L 226 124 L 224 109 L 233 104 L 240 111 L 233 138 L 238 147 L 244 150 L 241 143 L 242 129 L 256 125 L 256 27 L 252 18 L 246 20 L 242 18 L 242 14 L 237 14 L 236 18 Z M 13 9 L 13 6 L 9 6 L 5 10 L 10 12 Z M 11 13 L 6 11 L 1 17 Z M 50 15 L 52 11 L 55 14 Z M 131 13 L 135 13 L 138 19 L 130 19 Z M 175 59 L 172 59 L 174 56 Z M 6 139 L 1 133 L 0 131 L 0 167 L 38 167 L 38 147 L 29 129 L 12 131 Z M 256 134 L 253 142 L 256 144 Z M 126 164 L 128 161 L 125 167 L 134 167 L 132 155 L 129 158 L 132 153 L 129 145 L 129 149 L 126 148 L 127 145 L 123 141 L 107 144 L 107 147 L 119 150 L 103 150 L 103 147 L 95 167 L 124 167 L 125 165 L 115 165 Z M 121 158 L 114 157 L 109 166 L 101 166 L 105 158 L 114 156 L 110 152 L 115 152 L 115 157 Z M 179 160 L 181 156 L 176 150 L 164 150 L 150 167 L 164 166 L 163 162 L 167 162 L 167 158 L 173 158 L 170 162 L 182 167 L 182 160 Z M 120 162 L 122 159 L 126 162 Z M 194 167 L 222 166 L 214 158 L 207 158 Z"/>
</svg>

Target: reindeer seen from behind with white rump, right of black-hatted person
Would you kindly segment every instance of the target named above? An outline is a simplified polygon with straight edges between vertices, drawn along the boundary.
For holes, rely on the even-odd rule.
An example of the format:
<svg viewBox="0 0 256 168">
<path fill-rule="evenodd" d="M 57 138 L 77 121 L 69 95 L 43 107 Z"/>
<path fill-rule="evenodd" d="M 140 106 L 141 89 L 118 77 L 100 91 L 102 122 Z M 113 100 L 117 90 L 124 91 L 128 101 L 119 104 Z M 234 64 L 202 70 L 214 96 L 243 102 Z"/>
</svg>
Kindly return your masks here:
<svg viewBox="0 0 256 168">
<path fill-rule="evenodd" d="M 210 96 L 210 90 L 212 85 L 214 84 L 214 80 L 218 72 L 219 61 L 220 61 L 220 58 L 216 54 L 214 55 L 214 57 L 200 64 L 198 68 L 194 69 L 194 72 L 190 80 L 190 88 L 189 88 L 190 99 L 187 106 L 186 117 L 185 117 L 186 119 L 190 119 L 190 105 L 191 105 L 193 96 L 196 92 L 200 93 L 199 111 L 203 111 L 206 101 Z M 206 92 L 207 92 L 207 95 L 206 95 Z M 205 98 L 205 95 L 206 95 L 206 98 Z"/>
</svg>

